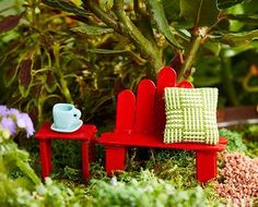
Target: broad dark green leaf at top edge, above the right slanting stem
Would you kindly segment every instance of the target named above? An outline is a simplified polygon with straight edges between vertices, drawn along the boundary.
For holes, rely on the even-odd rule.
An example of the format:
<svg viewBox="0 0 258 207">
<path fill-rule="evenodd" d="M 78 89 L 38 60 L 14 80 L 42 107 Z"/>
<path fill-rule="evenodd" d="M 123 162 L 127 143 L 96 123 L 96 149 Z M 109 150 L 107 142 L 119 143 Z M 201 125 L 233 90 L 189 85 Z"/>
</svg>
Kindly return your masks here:
<svg viewBox="0 0 258 207">
<path fill-rule="evenodd" d="M 214 0 L 180 0 L 180 16 L 192 26 L 210 26 L 216 22 L 219 9 Z"/>
</svg>

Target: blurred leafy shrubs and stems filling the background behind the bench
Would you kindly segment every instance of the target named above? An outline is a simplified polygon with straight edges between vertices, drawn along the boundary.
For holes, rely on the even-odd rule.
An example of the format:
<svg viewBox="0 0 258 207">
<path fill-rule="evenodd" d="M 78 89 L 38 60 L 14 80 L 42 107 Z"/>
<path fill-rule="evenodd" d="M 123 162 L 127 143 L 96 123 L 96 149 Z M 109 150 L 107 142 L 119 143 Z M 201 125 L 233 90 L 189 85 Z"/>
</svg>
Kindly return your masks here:
<svg viewBox="0 0 258 207">
<path fill-rule="evenodd" d="M 219 87 L 221 107 L 257 104 L 255 0 L 121 2 L 2 1 L 0 102 L 36 124 L 73 102 L 83 121 L 108 126 L 118 92 L 172 64 L 197 87 Z"/>
</svg>

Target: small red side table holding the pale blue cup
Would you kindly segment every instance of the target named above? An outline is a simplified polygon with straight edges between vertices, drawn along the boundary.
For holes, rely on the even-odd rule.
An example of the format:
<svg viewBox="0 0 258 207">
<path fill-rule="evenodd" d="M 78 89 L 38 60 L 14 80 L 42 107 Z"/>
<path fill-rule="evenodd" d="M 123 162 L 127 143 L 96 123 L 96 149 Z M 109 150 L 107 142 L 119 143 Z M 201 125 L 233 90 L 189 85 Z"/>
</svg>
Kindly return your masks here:
<svg viewBox="0 0 258 207">
<path fill-rule="evenodd" d="M 42 162 L 42 176 L 45 179 L 51 172 L 51 139 L 73 139 L 81 141 L 82 172 L 84 181 L 90 176 L 90 161 L 95 159 L 95 136 L 97 129 L 93 124 L 83 124 L 78 131 L 72 133 L 55 132 L 50 129 L 50 123 L 43 123 L 36 133 L 39 141 L 39 156 Z"/>
</svg>

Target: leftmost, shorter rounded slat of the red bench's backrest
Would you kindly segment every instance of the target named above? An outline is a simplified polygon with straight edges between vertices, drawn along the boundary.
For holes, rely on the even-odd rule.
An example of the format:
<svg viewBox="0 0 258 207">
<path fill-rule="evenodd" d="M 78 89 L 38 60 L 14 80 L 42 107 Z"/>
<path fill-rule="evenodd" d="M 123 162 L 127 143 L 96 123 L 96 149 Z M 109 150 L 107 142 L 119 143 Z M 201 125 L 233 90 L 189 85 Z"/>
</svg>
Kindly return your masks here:
<svg viewBox="0 0 258 207">
<path fill-rule="evenodd" d="M 116 131 L 131 131 L 136 117 L 136 96 L 125 89 L 119 93 L 117 98 Z"/>
</svg>

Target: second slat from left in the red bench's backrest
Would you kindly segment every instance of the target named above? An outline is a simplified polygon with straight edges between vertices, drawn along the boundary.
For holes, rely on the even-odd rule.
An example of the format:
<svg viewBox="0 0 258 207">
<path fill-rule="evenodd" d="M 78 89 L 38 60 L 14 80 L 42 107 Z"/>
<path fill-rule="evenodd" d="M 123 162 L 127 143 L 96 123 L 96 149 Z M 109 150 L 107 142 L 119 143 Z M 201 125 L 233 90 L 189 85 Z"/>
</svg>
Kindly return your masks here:
<svg viewBox="0 0 258 207">
<path fill-rule="evenodd" d="M 150 80 L 143 80 L 139 83 L 137 90 L 137 109 L 136 132 L 153 132 L 154 123 L 154 106 L 155 106 L 155 89 L 156 86 Z"/>
</svg>

